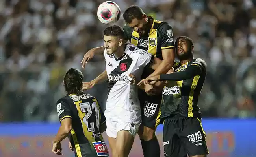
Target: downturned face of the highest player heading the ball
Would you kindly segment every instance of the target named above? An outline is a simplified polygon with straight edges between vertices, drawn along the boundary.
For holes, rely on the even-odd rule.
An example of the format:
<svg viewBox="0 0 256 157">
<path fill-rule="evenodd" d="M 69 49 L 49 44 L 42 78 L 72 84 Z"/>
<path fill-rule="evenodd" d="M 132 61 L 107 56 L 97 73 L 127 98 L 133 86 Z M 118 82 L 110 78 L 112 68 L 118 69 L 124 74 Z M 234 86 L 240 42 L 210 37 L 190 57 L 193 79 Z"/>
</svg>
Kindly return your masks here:
<svg viewBox="0 0 256 157">
<path fill-rule="evenodd" d="M 144 35 L 148 30 L 147 22 L 147 16 L 143 15 L 141 20 L 138 20 L 137 18 L 132 19 L 132 22 L 128 24 L 128 26 L 134 28 L 134 31 L 139 33 L 139 35 Z"/>
</svg>

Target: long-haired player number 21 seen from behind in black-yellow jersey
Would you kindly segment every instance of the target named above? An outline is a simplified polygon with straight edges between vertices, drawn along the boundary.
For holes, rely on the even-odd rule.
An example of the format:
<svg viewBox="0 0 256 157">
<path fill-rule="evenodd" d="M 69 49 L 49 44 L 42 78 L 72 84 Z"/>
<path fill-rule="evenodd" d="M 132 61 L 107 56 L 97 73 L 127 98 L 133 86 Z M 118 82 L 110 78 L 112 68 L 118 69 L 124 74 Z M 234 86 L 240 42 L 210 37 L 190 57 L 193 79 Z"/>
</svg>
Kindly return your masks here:
<svg viewBox="0 0 256 157">
<path fill-rule="evenodd" d="M 82 72 L 69 69 L 64 77 L 67 95 L 56 103 L 61 126 L 52 152 L 61 155 L 60 142 L 69 137 L 76 157 L 109 157 L 101 135 L 106 130 L 106 119 L 95 97 L 81 91 L 82 84 Z"/>
</svg>

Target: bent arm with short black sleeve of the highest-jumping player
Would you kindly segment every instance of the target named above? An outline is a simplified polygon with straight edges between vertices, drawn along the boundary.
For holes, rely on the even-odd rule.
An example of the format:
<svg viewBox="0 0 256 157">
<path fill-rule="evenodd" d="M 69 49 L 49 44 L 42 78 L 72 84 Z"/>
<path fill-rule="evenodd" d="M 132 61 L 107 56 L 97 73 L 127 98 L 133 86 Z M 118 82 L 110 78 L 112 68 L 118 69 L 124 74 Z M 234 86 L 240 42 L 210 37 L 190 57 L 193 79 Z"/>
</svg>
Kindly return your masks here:
<svg viewBox="0 0 256 157">
<path fill-rule="evenodd" d="M 174 51 L 174 38 L 173 38 L 173 28 L 169 24 L 163 24 L 159 28 L 160 32 L 160 43 L 163 61 L 157 66 L 155 71 L 149 76 L 165 74 L 174 65 L 175 51 Z"/>
</svg>

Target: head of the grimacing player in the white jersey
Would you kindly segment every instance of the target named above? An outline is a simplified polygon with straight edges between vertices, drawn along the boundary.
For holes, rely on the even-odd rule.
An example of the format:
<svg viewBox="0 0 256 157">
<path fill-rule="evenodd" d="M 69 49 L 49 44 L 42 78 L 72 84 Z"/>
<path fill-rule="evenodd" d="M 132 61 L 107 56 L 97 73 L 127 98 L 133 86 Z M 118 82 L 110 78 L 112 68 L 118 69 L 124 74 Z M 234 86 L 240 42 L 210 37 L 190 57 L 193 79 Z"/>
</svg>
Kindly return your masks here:
<svg viewBox="0 0 256 157">
<path fill-rule="evenodd" d="M 115 53 L 119 47 L 124 45 L 125 34 L 122 27 L 113 25 L 107 27 L 103 31 L 104 47 L 106 48 L 107 54 L 111 55 Z"/>
</svg>

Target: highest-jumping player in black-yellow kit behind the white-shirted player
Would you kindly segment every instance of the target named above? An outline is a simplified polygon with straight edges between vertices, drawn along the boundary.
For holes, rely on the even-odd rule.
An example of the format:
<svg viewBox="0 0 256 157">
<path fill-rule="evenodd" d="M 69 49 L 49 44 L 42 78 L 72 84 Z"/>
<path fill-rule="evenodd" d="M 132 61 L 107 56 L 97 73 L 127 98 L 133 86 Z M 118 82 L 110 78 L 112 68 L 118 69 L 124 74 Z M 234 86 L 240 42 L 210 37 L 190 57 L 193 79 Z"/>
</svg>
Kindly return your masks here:
<svg viewBox="0 0 256 157">
<path fill-rule="evenodd" d="M 134 44 L 139 49 L 143 49 L 151 53 L 155 57 L 163 60 L 160 66 L 154 71 L 145 68 L 142 79 L 161 73 L 167 73 L 174 64 L 174 39 L 173 29 L 166 22 L 157 21 L 147 16 L 140 7 L 128 7 L 123 14 L 126 22 L 124 32 L 126 40 Z M 93 58 L 95 54 L 103 54 L 104 46 L 96 47 L 88 51 L 82 60 L 82 67 Z M 106 71 L 99 78 L 101 81 L 106 79 Z M 95 82 L 84 83 L 85 89 L 91 88 Z M 160 157 L 160 146 L 155 135 L 155 130 L 160 124 L 160 104 L 161 94 L 148 96 L 144 90 L 139 90 L 139 101 L 142 111 L 142 125 L 138 132 L 141 139 L 141 145 L 145 157 Z"/>
</svg>

